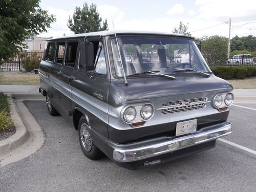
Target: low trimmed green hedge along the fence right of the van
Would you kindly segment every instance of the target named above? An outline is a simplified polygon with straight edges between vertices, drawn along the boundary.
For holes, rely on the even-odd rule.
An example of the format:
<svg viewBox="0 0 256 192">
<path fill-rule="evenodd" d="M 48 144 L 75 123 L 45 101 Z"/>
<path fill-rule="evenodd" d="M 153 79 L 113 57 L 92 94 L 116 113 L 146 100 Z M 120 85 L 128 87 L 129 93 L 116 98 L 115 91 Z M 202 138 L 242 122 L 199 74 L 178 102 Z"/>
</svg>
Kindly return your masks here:
<svg viewBox="0 0 256 192">
<path fill-rule="evenodd" d="M 256 66 L 216 66 L 211 71 L 223 79 L 244 79 L 256 76 Z"/>
</svg>

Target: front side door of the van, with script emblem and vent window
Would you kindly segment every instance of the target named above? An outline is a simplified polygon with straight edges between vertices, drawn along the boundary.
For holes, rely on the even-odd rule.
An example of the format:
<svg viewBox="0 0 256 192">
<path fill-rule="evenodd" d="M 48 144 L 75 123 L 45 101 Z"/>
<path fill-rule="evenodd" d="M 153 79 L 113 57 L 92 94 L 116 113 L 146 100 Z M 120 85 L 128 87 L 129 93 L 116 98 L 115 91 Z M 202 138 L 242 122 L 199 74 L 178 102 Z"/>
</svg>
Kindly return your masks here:
<svg viewBox="0 0 256 192">
<path fill-rule="evenodd" d="M 105 47 L 100 37 L 88 38 L 93 42 L 92 65 L 81 65 L 79 59 L 77 70 L 74 73 L 72 84 L 72 97 L 74 108 L 80 108 L 88 115 L 92 127 L 92 137 L 97 147 L 105 151 L 105 143 L 108 140 L 108 94 L 110 86 L 110 73 L 105 58 Z M 80 53 L 84 54 L 84 53 Z M 99 139 L 100 138 L 100 139 Z"/>
</svg>

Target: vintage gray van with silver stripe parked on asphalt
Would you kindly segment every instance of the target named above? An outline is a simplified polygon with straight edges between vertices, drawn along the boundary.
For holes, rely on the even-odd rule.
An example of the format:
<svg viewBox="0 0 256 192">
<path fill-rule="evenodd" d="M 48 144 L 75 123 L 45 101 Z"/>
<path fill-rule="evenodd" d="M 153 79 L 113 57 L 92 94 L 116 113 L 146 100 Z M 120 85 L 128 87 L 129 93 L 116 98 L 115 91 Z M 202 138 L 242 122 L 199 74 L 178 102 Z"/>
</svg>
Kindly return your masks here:
<svg viewBox="0 0 256 192">
<path fill-rule="evenodd" d="M 48 111 L 74 125 L 84 155 L 105 154 L 129 169 L 215 147 L 232 133 L 232 90 L 212 74 L 194 38 L 171 33 L 54 38 L 40 63 Z"/>
</svg>

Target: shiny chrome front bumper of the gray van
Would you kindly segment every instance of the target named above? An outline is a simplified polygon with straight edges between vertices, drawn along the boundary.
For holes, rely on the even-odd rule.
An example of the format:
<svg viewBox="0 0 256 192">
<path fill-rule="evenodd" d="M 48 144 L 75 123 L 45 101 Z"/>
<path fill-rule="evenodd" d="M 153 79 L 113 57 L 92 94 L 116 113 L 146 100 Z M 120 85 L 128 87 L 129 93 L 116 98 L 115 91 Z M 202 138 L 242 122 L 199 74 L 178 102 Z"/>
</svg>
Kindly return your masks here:
<svg viewBox="0 0 256 192">
<path fill-rule="evenodd" d="M 194 146 L 200 143 L 205 143 L 211 140 L 224 137 L 232 133 L 232 123 L 228 123 L 218 129 L 199 132 L 173 140 L 164 141 L 161 143 L 129 148 L 118 149 L 113 151 L 113 159 L 118 162 L 132 162 L 141 159 L 151 158 L 154 156 L 162 155 L 169 152 L 181 150 L 182 148 Z"/>
</svg>

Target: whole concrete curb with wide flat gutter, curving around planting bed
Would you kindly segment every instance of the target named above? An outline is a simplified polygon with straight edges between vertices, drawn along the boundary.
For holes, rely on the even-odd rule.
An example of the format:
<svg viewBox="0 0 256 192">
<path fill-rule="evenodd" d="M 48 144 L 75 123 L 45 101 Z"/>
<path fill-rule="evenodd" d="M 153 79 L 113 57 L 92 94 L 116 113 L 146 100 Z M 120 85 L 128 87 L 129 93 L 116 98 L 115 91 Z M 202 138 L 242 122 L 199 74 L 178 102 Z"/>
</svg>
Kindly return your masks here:
<svg viewBox="0 0 256 192">
<path fill-rule="evenodd" d="M 24 100 L 41 100 L 40 95 L 14 94 L 10 96 L 8 101 L 16 133 L 0 142 L 0 167 L 30 156 L 45 142 L 40 125 L 23 102 Z"/>
</svg>

